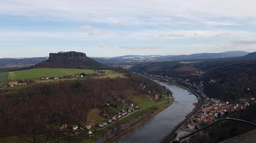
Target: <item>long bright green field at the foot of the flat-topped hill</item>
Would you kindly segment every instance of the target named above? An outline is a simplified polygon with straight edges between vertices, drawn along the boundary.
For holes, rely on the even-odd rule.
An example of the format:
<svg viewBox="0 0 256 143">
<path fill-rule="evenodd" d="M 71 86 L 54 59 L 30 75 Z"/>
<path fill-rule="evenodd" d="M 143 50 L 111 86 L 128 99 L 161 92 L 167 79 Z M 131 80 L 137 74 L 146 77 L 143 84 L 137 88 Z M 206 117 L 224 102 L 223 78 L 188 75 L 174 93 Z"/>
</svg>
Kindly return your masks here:
<svg viewBox="0 0 256 143">
<path fill-rule="evenodd" d="M 103 70 L 111 72 L 112 70 Z M 67 75 L 75 75 L 78 73 L 93 74 L 97 73 L 94 70 L 84 70 L 84 69 L 51 69 L 51 68 L 40 68 L 40 69 L 29 69 L 23 71 L 13 71 L 9 72 L 11 80 L 17 79 L 39 79 L 40 77 L 61 77 Z M 8 78 L 8 74 L 7 74 Z"/>
</svg>

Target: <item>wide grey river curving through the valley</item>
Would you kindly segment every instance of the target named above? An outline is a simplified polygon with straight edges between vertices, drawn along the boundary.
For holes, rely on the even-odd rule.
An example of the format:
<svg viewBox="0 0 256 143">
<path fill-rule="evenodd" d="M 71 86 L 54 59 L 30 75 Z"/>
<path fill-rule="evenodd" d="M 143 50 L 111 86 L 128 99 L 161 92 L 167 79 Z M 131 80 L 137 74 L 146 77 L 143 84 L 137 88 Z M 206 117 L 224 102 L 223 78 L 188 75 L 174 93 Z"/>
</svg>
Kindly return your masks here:
<svg viewBox="0 0 256 143">
<path fill-rule="evenodd" d="M 185 116 L 195 108 L 195 105 L 193 105 L 193 103 L 197 102 L 197 97 L 195 95 L 189 95 L 187 90 L 177 87 L 176 85 L 170 85 L 160 81 L 156 82 L 164 85 L 166 88 L 172 91 L 176 102 L 136 129 L 118 138 L 115 143 L 159 142 L 162 138 L 164 138 L 164 136 L 172 131 L 177 124 L 182 122 L 185 119 Z M 129 126 L 130 125 L 128 124 L 119 126 L 99 138 L 96 142 L 104 142 L 106 139 Z"/>
</svg>

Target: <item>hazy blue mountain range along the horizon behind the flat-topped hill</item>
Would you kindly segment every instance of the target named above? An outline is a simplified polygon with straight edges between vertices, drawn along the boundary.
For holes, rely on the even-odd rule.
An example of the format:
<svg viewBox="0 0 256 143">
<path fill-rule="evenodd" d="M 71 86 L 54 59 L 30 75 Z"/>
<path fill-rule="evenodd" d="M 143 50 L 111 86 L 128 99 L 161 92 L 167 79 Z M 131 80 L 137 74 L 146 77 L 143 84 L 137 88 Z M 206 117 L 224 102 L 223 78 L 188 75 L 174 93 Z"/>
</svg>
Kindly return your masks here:
<svg viewBox="0 0 256 143">
<path fill-rule="evenodd" d="M 247 55 L 248 54 L 248 55 Z M 245 57 L 243 57 L 245 56 Z M 240 60 L 253 60 L 256 59 L 256 53 L 249 53 L 246 51 L 228 51 L 220 53 L 195 53 L 188 55 L 123 55 L 116 57 L 91 57 L 85 61 L 90 62 L 95 60 L 99 63 L 113 66 L 123 64 L 136 64 L 143 62 L 158 62 L 158 61 L 179 61 L 179 60 L 205 60 L 205 59 L 221 59 L 221 58 L 236 58 L 240 57 Z M 88 58 L 86 56 L 86 58 Z M 0 59 L 0 67 L 6 66 L 31 66 L 42 61 L 48 60 L 48 57 L 41 58 L 3 58 Z M 65 58 L 63 58 L 65 60 Z M 95 63 L 95 62 L 93 62 Z M 95 63 L 96 64 L 96 63 Z M 92 64 L 94 65 L 94 64 Z M 97 65 L 97 64 L 96 64 Z M 63 66 L 62 66 L 63 67 Z"/>
</svg>

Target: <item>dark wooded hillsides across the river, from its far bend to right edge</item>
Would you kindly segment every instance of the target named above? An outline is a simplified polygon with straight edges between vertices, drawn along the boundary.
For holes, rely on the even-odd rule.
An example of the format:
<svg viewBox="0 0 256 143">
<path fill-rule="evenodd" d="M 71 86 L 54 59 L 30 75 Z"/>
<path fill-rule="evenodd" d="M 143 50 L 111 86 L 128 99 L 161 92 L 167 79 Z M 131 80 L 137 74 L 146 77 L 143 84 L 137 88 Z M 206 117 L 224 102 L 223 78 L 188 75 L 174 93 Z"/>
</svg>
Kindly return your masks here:
<svg viewBox="0 0 256 143">
<path fill-rule="evenodd" d="M 188 70 L 180 71 L 180 68 Z M 202 76 L 193 75 L 195 71 L 204 71 Z M 204 91 L 211 98 L 232 100 L 241 97 L 256 96 L 256 61 L 234 59 L 204 60 L 198 63 L 181 64 L 178 61 L 145 63 L 135 65 L 132 71 L 156 74 L 173 78 L 189 79 L 189 82 L 204 82 Z M 210 79 L 216 82 L 209 82 Z"/>
</svg>

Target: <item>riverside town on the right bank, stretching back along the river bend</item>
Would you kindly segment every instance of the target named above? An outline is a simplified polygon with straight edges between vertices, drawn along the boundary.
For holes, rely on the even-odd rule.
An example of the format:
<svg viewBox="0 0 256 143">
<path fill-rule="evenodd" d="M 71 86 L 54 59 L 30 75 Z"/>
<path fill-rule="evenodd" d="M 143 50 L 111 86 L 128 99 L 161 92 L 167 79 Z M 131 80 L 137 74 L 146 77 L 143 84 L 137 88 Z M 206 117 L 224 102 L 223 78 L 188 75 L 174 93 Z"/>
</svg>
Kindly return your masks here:
<svg viewBox="0 0 256 143">
<path fill-rule="evenodd" d="M 192 72 L 190 75 L 194 76 L 203 76 L 205 74 L 205 71 L 197 71 Z M 197 95 L 201 96 L 203 98 L 203 105 L 199 110 L 197 110 L 191 118 L 188 119 L 186 124 L 183 124 L 183 126 L 177 131 L 176 140 L 179 140 L 180 137 L 189 134 L 201 127 L 204 127 L 206 125 L 209 125 L 213 122 L 215 122 L 218 119 L 222 118 L 231 118 L 234 115 L 236 115 L 239 111 L 244 110 L 247 106 L 250 104 L 255 104 L 256 100 L 255 98 L 250 99 L 239 99 L 237 101 L 221 101 L 217 98 L 209 98 L 207 95 L 204 94 L 203 88 L 204 84 L 203 81 L 200 81 L 199 84 L 196 84 L 194 82 L 190 82 L 189 79 L 182 79 L 182 78 L 173 78 L 168 76 L 162 76 L 162 75 L 152 75 L 144 73 L 142 75 L 151 77 L 153 79 L 160 79 L 162 81 L 166 82 L 177 82 L 177 83 L 183 83 L 186 84 L 186 87 L 189 88 L 189 90 L 194 91 L 197 93 Z M 208 82 L 216 82 L 215 79 L 210 79 Z M 247 90 L 250 90 L 249 88 Z M 189 92 L 189 95 L 191 93 Z M 198 97 L 199 100 L 199 97 Z M 207 132 L 204 133 L 207 135 Z M 189 138 L 183 139 L 181 142 L 189 142 Z"/>
</svg>

